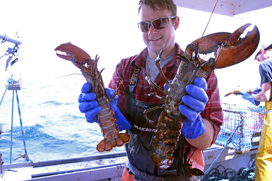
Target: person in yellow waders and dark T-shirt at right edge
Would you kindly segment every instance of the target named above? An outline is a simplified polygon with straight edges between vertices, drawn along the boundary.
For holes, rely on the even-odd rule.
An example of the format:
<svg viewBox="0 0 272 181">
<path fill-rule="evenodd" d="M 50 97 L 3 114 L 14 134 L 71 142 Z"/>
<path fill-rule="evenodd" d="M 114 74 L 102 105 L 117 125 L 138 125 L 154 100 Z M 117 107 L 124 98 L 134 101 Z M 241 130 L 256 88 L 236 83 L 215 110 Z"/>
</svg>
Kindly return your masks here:
<svg viewBox="0 0 272 181">
<path fill-rule="evenodd" d="M 255 181 L 272 180 L 272 44 L 261 45 L 255 59 L 260 62 L 261 92 L 258 94 L 244 93 L 242 98 L 254 105 L 265 102 L 266 115 L 255 158 Z"/>
</svg>

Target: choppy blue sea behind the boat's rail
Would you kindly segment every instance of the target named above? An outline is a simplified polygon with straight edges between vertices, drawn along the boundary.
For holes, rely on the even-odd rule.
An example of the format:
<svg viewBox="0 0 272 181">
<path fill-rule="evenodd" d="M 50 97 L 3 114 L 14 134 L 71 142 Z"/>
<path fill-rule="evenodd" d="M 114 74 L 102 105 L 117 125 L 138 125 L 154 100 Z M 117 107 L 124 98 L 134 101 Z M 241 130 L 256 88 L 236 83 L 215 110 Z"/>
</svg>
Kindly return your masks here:
<svg viewBox="0 0 272 181">
<path fill-rule="evenodd" d="M 258 86 L 258 81 L 241 81 L 235 74 L 218 72 L 218 84 L 222 103 L 250 104 L 241 96 L 224 95 L 232 89 L 248 90 Z M 78 109 L 78 95 L 85 83 L 82 75 L 77 79 L 64 77 L 51 81 L 26 81 L 18 90 L 21 120 L 26 149 L 30 160 L 55 160 L 83 157 L 97 154 L 96 145 L 103 139 L 99 125 L 86 122 L 85 115 Z M 248 78 L 248 75 L 245 75 Z M 242 76 L 240 75 L 240 78 Z M 105 83 L 107 85 L 108 82 Z M 232 85 L 232 86 L 230 86 Z M 0 85 L 0 96 L 4 94 L 5 83 Z M 12 90 L 7 90 L 0 106 L 0 124 L 3 135 L 0 151 L 5 164 L 10 163 Z M 20 119 L 14 91 L 13 131 L 11 163 L 24 162 L 18 154 L 24 154 Z M 251 104 L 251 106 L 253 106 Z M 124 147 L 114 148 L 111 153 L 125 151 Z"/>
</svg>

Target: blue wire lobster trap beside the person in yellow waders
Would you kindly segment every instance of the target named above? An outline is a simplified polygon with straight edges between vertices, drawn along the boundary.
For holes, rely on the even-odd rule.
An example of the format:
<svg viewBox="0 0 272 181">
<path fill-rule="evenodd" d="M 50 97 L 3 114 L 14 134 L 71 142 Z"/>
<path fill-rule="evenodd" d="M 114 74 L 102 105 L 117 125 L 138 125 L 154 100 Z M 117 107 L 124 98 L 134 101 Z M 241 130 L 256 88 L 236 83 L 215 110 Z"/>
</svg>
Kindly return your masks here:
<svg viewBox="0 0 272 181">
<path fill-rule="evenodd" d="M 256 150 L 259 146 L 261 131 L 264 123 L 264 107 L 246 107 L 222 104 L 224 123 L 215 144 L 235 149 L 235 153 L 242 154 Z"/>
</svg>

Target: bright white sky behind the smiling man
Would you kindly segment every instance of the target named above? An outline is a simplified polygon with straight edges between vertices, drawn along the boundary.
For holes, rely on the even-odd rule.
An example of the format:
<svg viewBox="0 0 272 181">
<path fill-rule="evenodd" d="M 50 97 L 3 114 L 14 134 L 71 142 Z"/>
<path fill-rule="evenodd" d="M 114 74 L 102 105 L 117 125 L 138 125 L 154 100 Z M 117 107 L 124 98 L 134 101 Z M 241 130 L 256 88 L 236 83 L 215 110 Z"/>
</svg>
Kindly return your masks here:
<svg viewBox="0 0 272 181">
<path fill-rule="evenodd" d="M 105 1 L 18 1 L 1 2 L 0 31 L 22 41 L 19 53 L 22 81 L 49 80 L 72 73 L 80 73 L 71 62 L 60 59 L 55 47 L 71 42 L 95 57 L 100 56 L 99 69 L 105 85 L 108 84 L 115 65 L 128 56 L 138 54 L 146 46 L 138 29 L 138 0 Z M 246 19 L 213 14 L 204 35 L 215 32 L 233 32 L 246 24 L 256 24 L 261 33 L 260 43 L 272 43 L 270 17 L 272 7 L 244 14 Z M 186 45 L 201 37 L 211 13 L 178 8 L 180 26 L 176 31 L 176 42 L 185 49 Z M 267 17 L 267 19 L 265 19 Z M 4 55 L 12 43 L 0 44 L 0 56 Z M 5 81 L 5 60 L 0 59 L 0 82 Z M 254 79 L 259 85 L 258 63 L 254 56 L 229 68 L 216 70 L 220 83 L 229 90 L 233 79 L 243 82 Z M 18 62 L 18 63 L 19 63 Z M 82 75 L 72 75 L 71 79 L 84 79 Z M 65 79 L 67 80 L 67 79 Z M 251 87 L 252 88 L 252 87 Z M 255 87 L 254 87 L 255 88 Z"/>
</svg>

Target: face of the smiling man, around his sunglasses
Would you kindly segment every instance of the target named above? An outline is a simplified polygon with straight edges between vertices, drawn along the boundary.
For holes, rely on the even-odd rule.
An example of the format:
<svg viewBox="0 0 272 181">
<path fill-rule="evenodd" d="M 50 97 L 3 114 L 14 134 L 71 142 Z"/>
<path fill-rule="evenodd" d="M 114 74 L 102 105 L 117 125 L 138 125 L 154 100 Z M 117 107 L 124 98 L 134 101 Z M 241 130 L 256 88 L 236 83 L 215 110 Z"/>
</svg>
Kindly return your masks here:
<svg viewBox="0 0 272 181">
<path fill-rule="evenodd" d="M 160 9 L 160 8 L 158 8 Z M 152 21 L 160 17 L 171 16 L 168 10 L 156 10 L 142 6 L 140 10 L 140 22 Z M 177 17 L 178 18 L 178 17 Z M 177 20 L 176 20 L 177 21 Z M 173 21 L 170 19 L 169 25 L 163 29 L 155 29 L 150 25 L 147 32 L 142 32 L 144 43 L 148 48 L 148 56 L 151 59 L 156 58 L 161 49 L 164 49 L 163 56 L 170 55 L 175 49 L 175 30 L 178 23 L 174 26 Z"/>
</svg>

